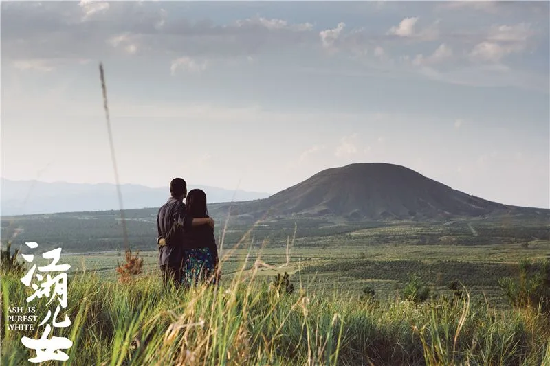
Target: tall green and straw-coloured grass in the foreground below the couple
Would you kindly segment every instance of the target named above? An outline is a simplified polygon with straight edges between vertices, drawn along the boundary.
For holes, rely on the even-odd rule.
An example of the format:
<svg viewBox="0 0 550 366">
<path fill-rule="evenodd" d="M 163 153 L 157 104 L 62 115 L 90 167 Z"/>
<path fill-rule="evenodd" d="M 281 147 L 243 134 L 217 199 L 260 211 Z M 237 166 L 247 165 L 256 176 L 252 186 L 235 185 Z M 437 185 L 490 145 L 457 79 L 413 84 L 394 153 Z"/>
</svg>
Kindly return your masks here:
<svg viewBox="0 0 550 366">
<path fill-rule="evenodd" d="M 72 324 L 53 328 L 74 342 L 65 364 L 550 365 L 550 323 L 536 309 L 494 310 L 469 297 L 379 304 L 305 293 L 296 282 L 288 294 L 241 274 L 188 292 L 164 290 L 156 275 L 130 284 L 76 275 L 68 288 Z M 1 290 L 1 365 L 30 364 L 34 350 L 20 339 L 38 339 L 44 326 L 15 332 L 4 321 L 8 306 L 27 306 L 30 290 L 9 274 Z M 47 301 L 33 303 L 39 322 Z"/>
</svg>

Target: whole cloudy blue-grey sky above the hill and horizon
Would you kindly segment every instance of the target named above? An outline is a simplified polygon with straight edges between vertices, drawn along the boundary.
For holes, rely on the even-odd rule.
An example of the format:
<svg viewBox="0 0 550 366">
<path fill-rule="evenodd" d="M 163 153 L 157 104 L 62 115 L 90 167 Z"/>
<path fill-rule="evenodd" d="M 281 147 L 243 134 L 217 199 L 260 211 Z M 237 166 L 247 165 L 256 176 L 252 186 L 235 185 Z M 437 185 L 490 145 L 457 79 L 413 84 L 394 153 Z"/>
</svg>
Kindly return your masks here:
<svg viewBox="0 0 550 366">
<path fill-rule="evenodd" d="M 550 208 L 549 3 L 1 3 L 1 176 L 275 193 L 349 163 Z"/>
</svg>

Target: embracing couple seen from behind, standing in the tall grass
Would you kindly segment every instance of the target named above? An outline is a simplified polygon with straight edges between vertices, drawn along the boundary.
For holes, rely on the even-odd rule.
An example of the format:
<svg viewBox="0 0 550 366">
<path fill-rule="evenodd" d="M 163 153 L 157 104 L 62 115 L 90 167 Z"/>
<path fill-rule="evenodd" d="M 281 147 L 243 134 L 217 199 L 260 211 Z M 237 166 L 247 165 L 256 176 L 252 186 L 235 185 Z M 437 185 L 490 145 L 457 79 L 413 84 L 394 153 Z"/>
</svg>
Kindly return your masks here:
<svg viewBox="0 0 550 366">
<path fill-rule="evenodd" d="M 164 286 L 219 282 L 214 220 L 208 216 L 202 190 L 187 192 L 184 179 L 173 179 L 170 198 L 157 215 L 157 231 Z"/>
</svg>

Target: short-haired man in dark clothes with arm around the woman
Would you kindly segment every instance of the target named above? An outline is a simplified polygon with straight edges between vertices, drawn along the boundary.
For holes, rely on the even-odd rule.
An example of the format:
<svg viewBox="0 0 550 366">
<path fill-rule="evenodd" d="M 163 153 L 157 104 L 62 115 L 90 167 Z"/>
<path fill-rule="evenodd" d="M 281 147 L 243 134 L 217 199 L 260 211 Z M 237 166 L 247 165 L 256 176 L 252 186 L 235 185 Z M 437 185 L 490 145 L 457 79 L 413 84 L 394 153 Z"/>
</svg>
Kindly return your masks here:
<svg viewBox="0 0 550 366">
<path fill-rule="evenodd" d="M 197 225 L 214 227 L 212 218 L 192 218 L 186 212 L 186 196 L 186 181 L 181 178 L 173 179 L 170 182 L 170 198 L 160 207 L 157 215 L 159 266 L 166 287 L 169 282 L 173 282 L 176 287 L 181 284 L 182 265 L 186 259 L 182 243 L 183 231 Z"/>
</svg>

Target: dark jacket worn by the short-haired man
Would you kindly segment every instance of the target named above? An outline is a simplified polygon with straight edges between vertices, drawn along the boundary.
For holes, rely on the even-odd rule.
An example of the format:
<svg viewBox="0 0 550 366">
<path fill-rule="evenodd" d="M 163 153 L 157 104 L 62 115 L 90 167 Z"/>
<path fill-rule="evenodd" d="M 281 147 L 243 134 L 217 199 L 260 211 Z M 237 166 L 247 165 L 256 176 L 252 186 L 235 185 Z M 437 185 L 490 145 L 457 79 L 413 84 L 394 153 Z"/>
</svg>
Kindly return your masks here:
<svg viewBox="0 0 550 366">
<path fill-rule="evenodd" d="M 170 197 L 159 209 L 157 231 L 166 240 L 159 247 L 160 266 L 181 266 L 184 259 L 184 230 L 192 227 L 193 218 L 187 213 L 185 203 Z"/>
</svg>

